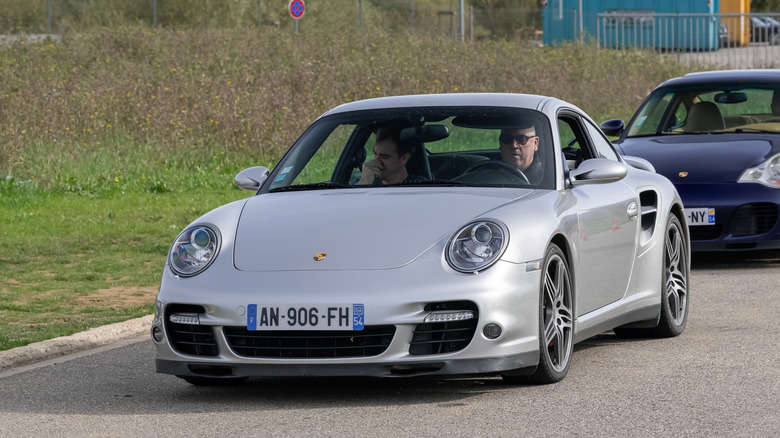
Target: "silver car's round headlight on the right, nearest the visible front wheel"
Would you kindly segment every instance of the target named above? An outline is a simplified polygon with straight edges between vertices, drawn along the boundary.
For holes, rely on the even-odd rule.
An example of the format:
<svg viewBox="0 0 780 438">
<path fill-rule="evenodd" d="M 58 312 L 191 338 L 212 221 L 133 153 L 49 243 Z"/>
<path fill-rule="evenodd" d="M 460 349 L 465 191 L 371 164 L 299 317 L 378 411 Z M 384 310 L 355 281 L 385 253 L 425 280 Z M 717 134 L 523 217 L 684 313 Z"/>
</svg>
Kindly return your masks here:
<svg viewBox="0 0 780 438">
<path fill-rule="evenodd" d="M 460 272 L 478 272 L 496 262 L 506 248 L 509 232 L 496 222 L 472 222 L 455 233 L 447 245 L 447 262 Z"/>
</svg>

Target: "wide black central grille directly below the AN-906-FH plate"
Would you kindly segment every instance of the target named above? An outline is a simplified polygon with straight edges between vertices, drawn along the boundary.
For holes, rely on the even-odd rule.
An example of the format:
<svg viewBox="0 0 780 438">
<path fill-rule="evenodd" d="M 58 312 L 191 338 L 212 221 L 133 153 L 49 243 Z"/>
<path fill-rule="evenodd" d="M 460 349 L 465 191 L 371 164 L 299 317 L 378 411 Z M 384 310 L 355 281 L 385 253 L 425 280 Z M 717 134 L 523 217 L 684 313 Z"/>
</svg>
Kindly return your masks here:
<svg viewBox="0 0 780 438">
<path fill-rule="evenodd" d="M 225 327 L 230 348 L 239 356 L 312 359 L 366 357 L 382 354 L 395 335 L 395 326 L 366 326 L 359 331 L 250 331 Z"/>
</svg>

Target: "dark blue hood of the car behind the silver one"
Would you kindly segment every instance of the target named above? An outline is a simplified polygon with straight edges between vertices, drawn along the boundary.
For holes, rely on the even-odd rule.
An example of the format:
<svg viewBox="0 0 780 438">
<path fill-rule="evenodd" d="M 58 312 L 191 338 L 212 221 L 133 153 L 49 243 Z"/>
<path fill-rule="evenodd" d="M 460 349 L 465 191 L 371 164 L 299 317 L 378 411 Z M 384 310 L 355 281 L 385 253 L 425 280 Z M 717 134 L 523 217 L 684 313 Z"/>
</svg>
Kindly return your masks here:
<svg viewBox="0 0 780 438">
<path fill-rule="evenodd" d="M 677 184 L 734 182 L 766 157 L 772 143 L 744 134 L 696 134 L 626 139 L 619 147 Z"/>
</svg>

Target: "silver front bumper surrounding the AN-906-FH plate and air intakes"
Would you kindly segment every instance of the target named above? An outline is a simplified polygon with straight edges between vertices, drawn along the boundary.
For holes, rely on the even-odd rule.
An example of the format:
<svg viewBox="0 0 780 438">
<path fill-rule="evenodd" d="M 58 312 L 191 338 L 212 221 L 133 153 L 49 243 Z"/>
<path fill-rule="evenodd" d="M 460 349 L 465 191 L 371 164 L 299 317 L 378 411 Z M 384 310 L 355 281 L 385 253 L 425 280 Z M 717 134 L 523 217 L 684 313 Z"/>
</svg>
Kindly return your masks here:
<svg viewBox="0 0 780 438">
<path fill-rule="evenodd" d="M 484 374 L 533 370 L 539 361 L 540 270 L 525 264 L 498 262 L 480 274 L 460 274 L 442 260 L 417 260 L 407 266 L 374 271 L 242 272 L 232 266 L 214 269 L 188 279 L 177 279 L 166 270 L 157 298 L 153 323 L 156 332 L 156 367 L 160 373 L 212 378 L 248 376 L 376 376 L 401 377 L 426 374 Z M 214 269 L 212 271 L 212 269 Z M 222 272 L 220 272 L 222 271 Z M 226 286 L 229 278 L 230 286 Z M 367 350 L 350 357 L 250 357 L 237 348 L 236 332 L 246 334 L 245 308 L 249 304 L 361 303 L 366 328 L 391 327 L 392 334 L 380 352 Z M 422 335 L 431 306 L 475 310 L 470 339 L 460 344 L 442 342 L 450 331 L 435 327 L 434 335 Z M 167 309 L 198 309 L 198 328 L 192 340 L 206 339 L 208 348 L 182 347 L 178 326 L 166 321 Z M 501 328 L 489 338 L 488 324 Z M 430 326 L 430 324 L 427 324 Z M 425 327 L 430 329 L 430 327 Z M 462 327 L 455 327 L 461 330 Z M 295 335 L 296 332 L 285 332 Z M 335 332 L 351 338 L 352 332 Z M 349 342 L 359 345 L 359 332 Z M 250 338 L 264 333 L 252 331 Z M 302 333 L 307 337 L 306 333 Z M 311 332 L 314 338 L 317 332 Z M 187 334 L 184 343 L 186 344 Z M 271 334 L 273 336 L 273 334 Z M 280 338 L 280 342 L 283 340 Z M 286 341 L 286 338 L 285 338 Z M 242 345 L 254 341 L 240 341 Z M 331 342 L 328 340 L 327 342 Z M 334 341 L 336 342 L 336 341 Z M 432 342 L 428 351 L 420 345 Z M 304 342 L 321 348 L 321 341 Z M 302 344 L 303 345 L 303 344 Z M 416 347 L 413 347 L 416 345 Z M 302 348 L 310 348 L 302 346 Z M 372 352 L 373 351 L 373 352 Z"/>
</svg>

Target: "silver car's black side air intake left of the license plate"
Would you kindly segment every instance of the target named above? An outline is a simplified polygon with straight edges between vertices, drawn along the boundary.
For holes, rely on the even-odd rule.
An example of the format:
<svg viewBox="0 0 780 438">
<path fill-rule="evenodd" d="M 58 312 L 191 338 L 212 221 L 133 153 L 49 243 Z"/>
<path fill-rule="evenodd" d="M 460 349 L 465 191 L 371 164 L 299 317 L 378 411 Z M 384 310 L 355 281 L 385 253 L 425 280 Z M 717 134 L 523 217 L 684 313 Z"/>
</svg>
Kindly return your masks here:
<svg viewBox="0 0 780 438">
<path fill-rule="evenodd" d="M 178 324 L 170 321 L 173 313 L 203 313 L 201 306 L 171 304 L 165 309 L 165 332 L 171 348 L 182 354 L 216 356 L 219 354 L 214 329 L 207 325 Z"/>
</svg>

